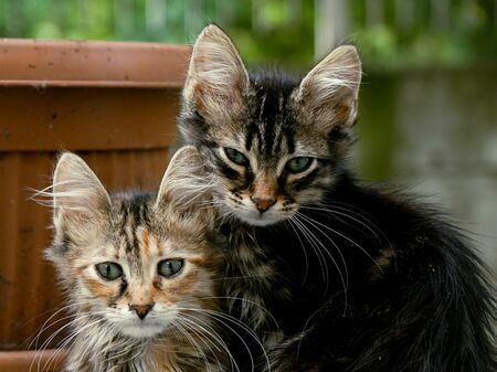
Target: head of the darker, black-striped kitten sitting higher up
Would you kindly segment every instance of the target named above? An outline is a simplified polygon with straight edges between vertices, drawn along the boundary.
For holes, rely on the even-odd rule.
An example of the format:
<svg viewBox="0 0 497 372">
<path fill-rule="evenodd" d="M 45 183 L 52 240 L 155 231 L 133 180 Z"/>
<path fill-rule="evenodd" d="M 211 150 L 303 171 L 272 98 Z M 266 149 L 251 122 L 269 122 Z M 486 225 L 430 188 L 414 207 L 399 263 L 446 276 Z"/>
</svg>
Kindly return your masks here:
<svg viewBox="0 0 497 372">
<path fill-rule="evenodd" d="M 216 199 L 253 225 L 320 201 L 342 171 L 361 65 L 340 46 L 302 81 L 248 75 L 225 33 L 207 26 L 191 56 L 180 130 L 212 168 Z"/>
</svg>

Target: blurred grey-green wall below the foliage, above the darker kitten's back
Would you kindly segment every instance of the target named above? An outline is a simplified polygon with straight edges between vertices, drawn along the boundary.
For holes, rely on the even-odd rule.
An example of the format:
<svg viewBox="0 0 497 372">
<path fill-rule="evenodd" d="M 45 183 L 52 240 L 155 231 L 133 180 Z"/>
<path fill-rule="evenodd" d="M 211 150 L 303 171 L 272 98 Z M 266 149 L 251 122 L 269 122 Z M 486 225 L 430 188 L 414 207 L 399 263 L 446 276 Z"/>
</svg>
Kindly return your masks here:
<svg viewBox="0 0 497 372">
<path fill-rule="evenodd" d="M 497 273 L 497 68 L 369 74 L 357 163 L 452 212 Z"/>
</svg>

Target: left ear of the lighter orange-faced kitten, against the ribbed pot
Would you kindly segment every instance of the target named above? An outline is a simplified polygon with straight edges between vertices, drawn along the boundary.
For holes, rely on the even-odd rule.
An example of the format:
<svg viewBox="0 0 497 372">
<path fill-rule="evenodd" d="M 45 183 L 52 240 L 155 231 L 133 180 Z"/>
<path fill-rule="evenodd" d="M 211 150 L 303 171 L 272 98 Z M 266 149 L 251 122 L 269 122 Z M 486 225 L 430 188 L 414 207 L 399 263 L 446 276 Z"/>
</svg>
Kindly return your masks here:
<svg viewBox="0 0 497 372">
<path fill-rule="evenodd" d="M 65 152 L 55 167 L 52 184 L 55 232 L 85 238 L 105 223 L 110 198 L 96 174 L 78 156 Z"/>
</svg>

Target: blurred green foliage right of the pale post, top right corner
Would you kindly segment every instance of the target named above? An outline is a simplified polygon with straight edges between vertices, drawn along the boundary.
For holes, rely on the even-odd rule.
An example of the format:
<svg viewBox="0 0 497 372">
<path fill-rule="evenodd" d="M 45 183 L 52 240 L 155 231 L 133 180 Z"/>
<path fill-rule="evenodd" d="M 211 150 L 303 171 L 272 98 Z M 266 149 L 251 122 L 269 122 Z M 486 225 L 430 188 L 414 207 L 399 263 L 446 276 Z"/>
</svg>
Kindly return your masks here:
<svg viewBox="0 0 497 372">
<path fill-rule="evenodd" d="M 383 20 L 376 24 L 367 21 L 366 1 L 369 0 L 352 1 L 350 40 L 359 45 L 370 68 L 496 63 L 496 0 L 442 0 L 446 8 L 441 14 L 434 9 L 441 0 L 406 0 L 402 4 L 410 6 L 404 14 L 395 9 L 400 0 L 383 0 Z"/>
</svg>

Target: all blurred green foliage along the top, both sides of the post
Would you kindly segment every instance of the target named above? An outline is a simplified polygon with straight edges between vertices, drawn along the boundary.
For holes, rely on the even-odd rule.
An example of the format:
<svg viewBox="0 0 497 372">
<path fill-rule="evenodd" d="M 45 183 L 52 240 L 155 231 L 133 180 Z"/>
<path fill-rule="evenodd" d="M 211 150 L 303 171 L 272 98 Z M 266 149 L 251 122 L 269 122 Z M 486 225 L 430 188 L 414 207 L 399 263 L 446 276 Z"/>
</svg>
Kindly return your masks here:
<svg viewBox="0 0 497 372">
<path fill-rule="evenodd" d="M 0 36 L 191 43 L 216 22 L 248 63 L 302 68 L 314 59 L 319 1 L 335 0 L 0 0 Z M 496 61 L 497 0 L 341 1 L 369 68 Z"/>
</svg>

